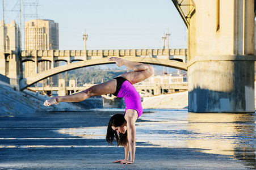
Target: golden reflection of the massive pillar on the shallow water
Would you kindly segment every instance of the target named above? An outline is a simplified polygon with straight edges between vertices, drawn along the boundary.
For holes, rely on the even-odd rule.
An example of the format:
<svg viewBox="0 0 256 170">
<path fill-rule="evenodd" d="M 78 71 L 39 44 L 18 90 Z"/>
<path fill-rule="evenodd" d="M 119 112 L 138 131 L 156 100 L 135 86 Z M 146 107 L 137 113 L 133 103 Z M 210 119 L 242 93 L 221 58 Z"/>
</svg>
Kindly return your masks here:
<svg viewBox="0 0 256 170">
<path fill-rule="evenodd" d="M 256 168 L 255 114 L 188 113 L 187 127 L 198 134 L 188 140 L 188 147 L 230 155 Z"/>
</svg>

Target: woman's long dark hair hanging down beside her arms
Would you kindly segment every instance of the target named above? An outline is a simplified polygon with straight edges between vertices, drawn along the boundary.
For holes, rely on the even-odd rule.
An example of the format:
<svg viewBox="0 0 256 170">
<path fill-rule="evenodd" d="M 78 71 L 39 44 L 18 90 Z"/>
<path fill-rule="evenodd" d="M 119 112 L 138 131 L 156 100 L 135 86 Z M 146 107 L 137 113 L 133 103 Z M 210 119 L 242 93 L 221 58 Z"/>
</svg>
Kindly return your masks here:
<svg viewBox="0 0 256 170">
<path fill-rule="evenodd" d="M 124 134 L 117 134 L 117 132 L 111 128 L 112 126 L 114 126 L 115 128 L 121 126 L 124 124 L 124 122 L 126 122 L 126 120 L 124 119 L 123 114 L 115 114 L 110 118 L 110 122 L 108 122 L 107 126 L 106 135 L 106 141 L 108 142 L 108 144 L 113 145 L 113 140 L 115 140 L 117 142 L 117 146 L 124 146 L 124 143 L 127 139 L 127 131 L 125 131 Z"/>
</svg>

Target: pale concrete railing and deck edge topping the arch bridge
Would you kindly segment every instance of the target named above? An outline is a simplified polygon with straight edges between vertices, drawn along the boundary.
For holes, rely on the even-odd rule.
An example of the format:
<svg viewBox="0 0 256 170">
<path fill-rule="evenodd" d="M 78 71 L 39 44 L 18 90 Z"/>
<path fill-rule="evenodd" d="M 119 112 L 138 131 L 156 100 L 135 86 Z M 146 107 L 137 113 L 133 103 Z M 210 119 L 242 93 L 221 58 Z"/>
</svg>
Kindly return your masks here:
<svg viewBox="0 0 256 170">
<path fill-rule="evenodd" d="M 187 63 L 187 49 L 23 50 L 22 62 L 85 61 L 104 57 L 152 57 Z"/>
</svg>

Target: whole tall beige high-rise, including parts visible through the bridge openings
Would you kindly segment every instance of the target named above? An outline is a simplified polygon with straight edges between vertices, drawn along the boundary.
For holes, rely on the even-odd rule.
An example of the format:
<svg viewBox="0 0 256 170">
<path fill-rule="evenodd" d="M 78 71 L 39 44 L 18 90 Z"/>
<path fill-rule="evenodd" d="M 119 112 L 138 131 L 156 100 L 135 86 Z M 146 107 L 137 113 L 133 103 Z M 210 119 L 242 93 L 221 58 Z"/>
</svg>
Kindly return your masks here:
<svg viewBox="0 0 256 170">
<path fill-rule="evenodd" d="M 58 49 L 58 23 L 48 19 L 34 19 L 25 23 L 25 50 L 51 50 Z M 54 66 L 58 63 L 54 63 Z M 38 73 L 50 69 L 51 62 L 40 61 L 37 65 Z M 32 61 L 24 63 L 24 76 L 35 74 L 35 65 Z M 50 82 L 51 80 L 51 82 Z M 58 75 L 51 79 L 39 82 L 37 86 L 58 86 Z"/>
</svg>

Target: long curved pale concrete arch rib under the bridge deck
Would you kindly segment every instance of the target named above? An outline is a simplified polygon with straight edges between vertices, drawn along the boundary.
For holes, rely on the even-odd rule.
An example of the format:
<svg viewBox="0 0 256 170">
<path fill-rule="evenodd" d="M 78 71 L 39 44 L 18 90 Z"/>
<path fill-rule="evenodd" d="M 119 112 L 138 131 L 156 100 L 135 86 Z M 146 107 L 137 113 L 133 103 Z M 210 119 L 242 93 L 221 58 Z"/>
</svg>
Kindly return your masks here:
<svg viewBox="0 0 256 170">
<path fill-rule="evenodd" d="M 186 63 L 179 62 L 179 61 L 173 61 L 170 59 L 166 60 L 166 59 L 159 59 L 159 58 L 152 58 L 152 57 L 122 57 L 122 58 L 128 59 L 129 61 L 173 67 L 175 69 L 187 71 Z M 104 57 L 104 58 L 90 59 L 90 60 L 85 60 L 85 61 L 69 63 L 68 65 L 64 65 L 64 66 L 54 67 L 53 69 L 49 69 L 47 71 L 43 71 L 43 72 L 35 74 L 33 76 L 21 79 L 20 84 L 19 84 L 20 90 L 24 90 L 27 87 L 31 86 L 32 84 L 39 82 L 40 80 L 48 78 L 49 76 L 53 76 L 53 75 L 62 73 L 64 71 L 78 69 L 81 67 L 103 65 L 103 64 L 110 64 L 110 63 L 115 63 L 115 62 L 109 62 L 108 58 Z"/>
</svg>

